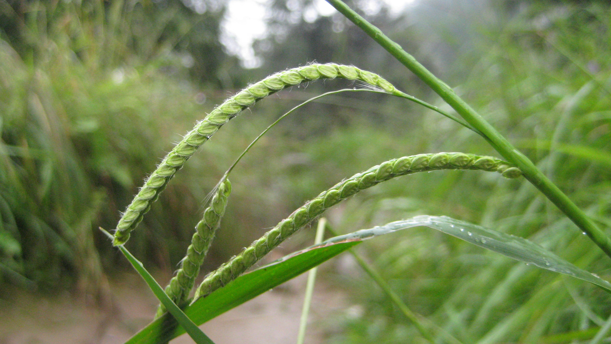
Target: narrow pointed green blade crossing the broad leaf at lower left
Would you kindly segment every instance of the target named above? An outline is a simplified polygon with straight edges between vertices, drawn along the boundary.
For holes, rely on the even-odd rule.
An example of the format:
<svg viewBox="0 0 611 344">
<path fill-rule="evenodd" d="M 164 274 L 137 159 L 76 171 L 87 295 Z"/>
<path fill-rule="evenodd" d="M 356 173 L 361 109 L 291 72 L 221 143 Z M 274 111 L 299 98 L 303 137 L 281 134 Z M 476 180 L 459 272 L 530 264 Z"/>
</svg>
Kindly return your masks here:
<svg viewBox="0 0 611 344">
<path fill-rule="evenodd" d="M 112 234 L 108 233 L 108 231 L 104 230 L 104 228 L 100 227 L 100 230 L 102 231 L 102 233 L 106 234 L 109 239 L 114 239 Z M 119 250 L 121 250 L 125 258 L 130 261 L 131 265 L 134 267 L 134 269 L 136 269 L 138 274 L 142 276 L 144 282 L 147 282 L 147 285 L 151 288 L 153 294 L 155 294 L 155 296 L 166 307 L 170 314 L 174 316 L 176 321 L 178 321 L 180 326 L 185 329 L 189 336 L 197 344 L 214 344 L 214 342 L 210 338 L 208 338 L 208 336 L 203 333 L 202 330 L 200 330 L 199 327 L 197 327 L 197 325 L 194 324 L 193 321 L 191 321 L 191 319 L 189 319 L 189 317 L 186 316 L 186 314 L 180 308 L 178 308 L 174 301 L 172 301 L 172 299 L 170 299 L 170 297 L 167 296 L 166 293 L 164 293 L 159 283 L 157 283 L 153 276 L 148 273 L 147 269 L 144 268 L 144 265 L 142 265 L 141 261 L 137 260 L 136 257 L 134 257 L 130 253 L 130 251 L 125 248 L 125 246 L 117 245 L 117 247 L 119 247 Z"/>
</svg>

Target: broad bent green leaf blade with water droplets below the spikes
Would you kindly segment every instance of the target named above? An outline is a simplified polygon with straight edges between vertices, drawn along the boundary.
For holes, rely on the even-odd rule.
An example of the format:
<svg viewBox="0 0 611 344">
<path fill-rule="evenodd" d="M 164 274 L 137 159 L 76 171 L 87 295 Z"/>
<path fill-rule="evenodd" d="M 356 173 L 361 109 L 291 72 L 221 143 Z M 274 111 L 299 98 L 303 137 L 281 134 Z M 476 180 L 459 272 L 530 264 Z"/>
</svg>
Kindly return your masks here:
<svg viewBox="0 0 611 344">
<path fill-rule="evenodd" d="M 268 266 L 244 274 L 214 293 L 197 300 L 185 309 L 186 315 L 196 324 L 205 323 L 227 310 L 249 301 L 253 297 L 292 279 L 312 267 L 348 250 L 359 242 L 399 230 L 426 226 L 458 237 L 514 260 L 576 277 L 611 292 L 611 283 L 580 269 L 552 252 L 522 237 L 455 220 L 445 216 L 421 215 L 408 220 L 387 223 L 368 230 L 360 230 L 332 237 L 320 245 L 314 245 L 285 256 Z M 167 326 L 172 320 L 166 315 L 159 318 L 128 340 L 128 344 L 165 343 L 185 331 L 181 327 Z"/>
</svg>

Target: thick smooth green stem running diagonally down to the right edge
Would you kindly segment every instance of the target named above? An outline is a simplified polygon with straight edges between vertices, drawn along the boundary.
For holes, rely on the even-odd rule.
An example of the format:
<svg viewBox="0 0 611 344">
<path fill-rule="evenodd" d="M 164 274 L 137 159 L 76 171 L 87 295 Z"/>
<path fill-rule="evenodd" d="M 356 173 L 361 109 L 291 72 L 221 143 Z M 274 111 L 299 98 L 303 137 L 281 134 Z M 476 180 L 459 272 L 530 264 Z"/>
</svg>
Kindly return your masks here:
<svg viewBox="0 0 611 344">
<path fill-rule="evenodd" d="M 528 179 L 537 189 L 554 203 L 560 211 L 562 211 L 573 223 L 575 223 L 588 237 L 592 239 L 600 247 L 607 256 L 611 257 L 611 239 L 607 237 L 588 217 L 585 213 L 577 208 L 577 206 L 566 196 L 558 187 L 552 183 L 547 177 L 541 173 L 535 164 L 530 161 L 526 155 L 515 149 L 507 139 L 497 132 L 492 125 L 486 122 L 480 114 L 471 108 L 463 99 L 458 97 L 456 93 L 443 81 L 439 80 L 420 62 L 416 61 L 414 56 L 406 53 L 400 45 L 390 40 L 386 35 L 370 24 L 363 17 L 360 17 L 356 12 L 351 10 L 346 4 L 340 0 L 327 0 L 335 9 L 342 13 L 346 18 L 352 21 L 356 26 L 361 28 L 371 38 L 373 38 L 382 48 L 386 49 L 405 67 L 408 67 L 420 80 L 424 81 L 433 89 L 439 96 L 445 100 L 458 114 L 460 114 L 467 123 L 472 125 L 474 129 L 483 133 L 488 138 L 488 142 L 502 155 L 508 162 L 518 166 L 524 177 Z"/>
</svg>

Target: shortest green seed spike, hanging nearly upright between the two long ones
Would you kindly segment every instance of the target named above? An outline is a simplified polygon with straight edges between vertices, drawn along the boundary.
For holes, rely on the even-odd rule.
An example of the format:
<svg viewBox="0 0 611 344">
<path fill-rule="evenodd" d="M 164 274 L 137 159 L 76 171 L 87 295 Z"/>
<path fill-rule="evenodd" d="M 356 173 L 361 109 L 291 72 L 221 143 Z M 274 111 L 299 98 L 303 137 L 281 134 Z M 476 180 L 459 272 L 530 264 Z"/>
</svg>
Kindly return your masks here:
<svg viewBox="0 0 611 344">
<path fill-rule="evenodd" d="M 203 259 L 210 249 L 214 233 L 221 225 L 221 218 L 225 213 L 227 206 L 227 197 L 231 193 L 231 183 L 229 179 L 219 184 L 216 193 L 210 201 L 210 206 L 203 212 L 203 219 L 197 223 L 193 234 L 191 245 L 187 249 L 187 255 L 180 262 L 180 269 L 176 275 L 172 277 L 170 283 L 166 286 L 167 296 L 174 301 L 178 307 L 183 307 L 187 304 L 189 292 L 195 284 L 195 279 L 199 274 L 199 267 L 202 266 Z M 155 318 L 163 315 L 166 312 L 164 305 L 159 305 Z"/>
</svg>

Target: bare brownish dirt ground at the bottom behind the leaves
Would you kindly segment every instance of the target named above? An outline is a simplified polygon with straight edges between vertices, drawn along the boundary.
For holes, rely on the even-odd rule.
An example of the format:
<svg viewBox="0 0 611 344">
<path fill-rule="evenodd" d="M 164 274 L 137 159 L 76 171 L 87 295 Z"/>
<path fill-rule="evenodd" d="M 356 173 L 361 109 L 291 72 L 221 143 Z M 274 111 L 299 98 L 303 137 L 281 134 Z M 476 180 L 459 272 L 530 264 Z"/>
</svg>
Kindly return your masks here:
<svg viewBox="0 0 611 344">
<path fill-rule="evenodd" d="M 216 344 L 295 343 L 307 274 L 200 326 Z M 70 295 L 42 299 L 19 293 L 0 298 L 0 344 L 119 344 L 152 320 L 157 302 L 137 275 L 111 283 L 114 312 L 88 307 Z M 343 316 L 345 295 L 316 281 L 306 343 L 321 343 L 326 320 Z M 170 343 L 193 343 L 181 335 Z"/>
</svg>

